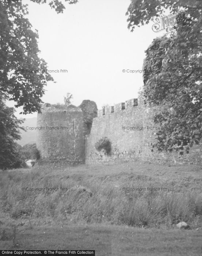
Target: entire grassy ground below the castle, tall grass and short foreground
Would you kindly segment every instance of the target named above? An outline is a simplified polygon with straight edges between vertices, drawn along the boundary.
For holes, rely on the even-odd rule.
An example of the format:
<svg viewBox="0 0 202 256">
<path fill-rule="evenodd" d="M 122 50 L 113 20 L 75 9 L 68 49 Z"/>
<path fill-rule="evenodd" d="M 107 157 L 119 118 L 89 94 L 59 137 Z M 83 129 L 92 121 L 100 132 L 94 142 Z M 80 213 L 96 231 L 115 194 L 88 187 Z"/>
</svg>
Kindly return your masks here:
<svg viewBox="0 0 202 256">
<path fill-rule="evenodd" d="M 201 166 L 195 165 L 127 162 L 3 172 L 0 249 L 202 255 L 201 187 Z M 179 221 L 190 229 L 176 229 Z"/>
</svg>

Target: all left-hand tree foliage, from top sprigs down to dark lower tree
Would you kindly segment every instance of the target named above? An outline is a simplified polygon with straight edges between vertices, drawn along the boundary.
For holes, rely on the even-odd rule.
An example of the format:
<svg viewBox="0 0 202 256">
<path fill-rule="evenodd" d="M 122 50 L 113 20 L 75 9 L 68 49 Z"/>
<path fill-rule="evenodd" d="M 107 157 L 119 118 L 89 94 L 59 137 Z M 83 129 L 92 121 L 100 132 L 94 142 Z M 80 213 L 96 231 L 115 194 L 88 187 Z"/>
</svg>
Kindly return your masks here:
<svg viewBox="0 0 202 256">
<path fill-rule="evenodd" d="M 70 4 L 77 0 L 67 0 Z M 46 0 L 33 0 L 46 3 Z M 63 12 L 61 1 L 51 0 L 50 7 Z M 15 101 L 15 107 L 23 107 L 23 114 L 41 112 L 41 97 L 47 81 L 53 78 L 46 72 L 45 60 L 39 58 L 38 33 L 25 15 L 27 5 L 21 0 L 0 0 L 0 168 L 16 168 L 22 163 L 19 124 L 13 108 L 5 105 L 5 99 Z"/>
</svg>

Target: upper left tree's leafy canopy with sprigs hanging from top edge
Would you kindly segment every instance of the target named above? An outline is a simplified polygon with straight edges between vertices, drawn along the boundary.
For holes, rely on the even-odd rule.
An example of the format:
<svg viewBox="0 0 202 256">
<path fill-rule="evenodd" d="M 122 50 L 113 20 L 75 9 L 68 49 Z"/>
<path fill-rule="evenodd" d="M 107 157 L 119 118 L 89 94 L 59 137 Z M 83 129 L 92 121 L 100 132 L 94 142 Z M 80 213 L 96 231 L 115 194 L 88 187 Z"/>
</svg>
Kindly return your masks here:
<svg viewBox="0 0 202 256">
<path fill-rule="evenodd" d="M 67 2 L 73 4 L 77 0 Z M 50 1 L 49 5 L 57 13 L 65 9 L 58 0 Z M 47 81 L 53 81 L 46 72 L 45 60 L 38 57 L 38 33 L 32 30 L 26 14 L 27 4 L 21 0 L 0 0 L 0 92 L 15 101 L 15 107 L 22 106 L 23 114 L 40 112 L 44 86 Z"/>
</svg>

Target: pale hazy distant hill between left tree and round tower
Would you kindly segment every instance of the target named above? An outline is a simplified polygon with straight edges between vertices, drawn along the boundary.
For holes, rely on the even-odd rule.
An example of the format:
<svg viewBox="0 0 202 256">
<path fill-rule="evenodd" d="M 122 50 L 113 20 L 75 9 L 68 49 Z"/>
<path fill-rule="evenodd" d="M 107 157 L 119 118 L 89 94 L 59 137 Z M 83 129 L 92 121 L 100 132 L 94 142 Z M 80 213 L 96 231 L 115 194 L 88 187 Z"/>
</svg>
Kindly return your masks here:
<svg viewBox="0 0 202 256">
<path fill-rule="evenodd" d="M 37 126 L 37 117 L 33 118 L 27 118 L 24 123 L 20 126 L 28 126 L 28 127 L 36 127 Z M 25 129 L 26 130 L 26 129 Z M 20 136 L 21 140 L 17 140 L 16 142 L 20 144 L 21 146 L 24 146 L 25 144 L 33 144 L 37 142 L 37 131 L 33 130 L 26 130 L 26 132 L 22 131 L 20 129 Z"/>
</svg>

